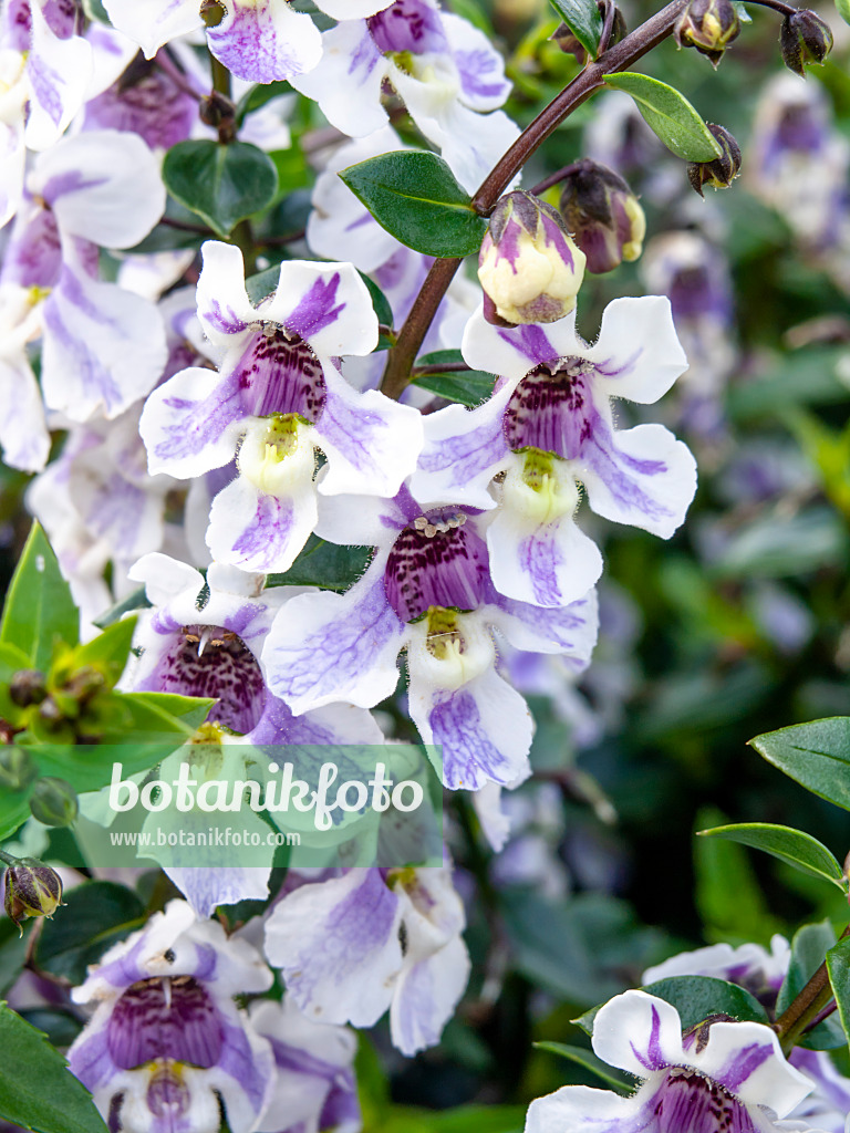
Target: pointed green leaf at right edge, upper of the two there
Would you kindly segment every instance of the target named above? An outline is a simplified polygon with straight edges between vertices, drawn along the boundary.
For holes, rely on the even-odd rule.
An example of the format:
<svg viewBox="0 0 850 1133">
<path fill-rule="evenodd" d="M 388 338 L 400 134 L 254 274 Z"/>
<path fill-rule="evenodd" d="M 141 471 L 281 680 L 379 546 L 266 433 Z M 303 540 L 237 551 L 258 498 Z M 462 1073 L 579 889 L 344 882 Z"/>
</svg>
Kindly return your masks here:
<svg viewBox="0 0 850 1133">
<path fill-rule="evenodd" d="M 749 742 L 807 790 L 850 810 L 850 716 L 781 727 Z"/>
</svg>

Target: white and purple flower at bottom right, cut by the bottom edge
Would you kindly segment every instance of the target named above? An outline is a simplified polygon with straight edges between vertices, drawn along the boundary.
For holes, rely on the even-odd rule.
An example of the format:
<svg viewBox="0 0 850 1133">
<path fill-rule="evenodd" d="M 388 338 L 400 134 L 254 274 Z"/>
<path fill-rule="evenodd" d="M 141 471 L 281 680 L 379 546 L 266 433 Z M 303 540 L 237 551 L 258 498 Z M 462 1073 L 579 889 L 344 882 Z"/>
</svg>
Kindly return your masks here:
<svg viewBox="0 0 850 1133">
<path fill-rule="evenodd" d="M 780 1122 L 811 1090 L 763 1023 L 707 1020 L 682 1036 L 675 1007 L 645 991 L 606 1003 L 592 1041 L 639 1089 L 563 1087 L 532 1102 L 526 1133 L 768 1133 L 793 1128 Z"/>
</svg>

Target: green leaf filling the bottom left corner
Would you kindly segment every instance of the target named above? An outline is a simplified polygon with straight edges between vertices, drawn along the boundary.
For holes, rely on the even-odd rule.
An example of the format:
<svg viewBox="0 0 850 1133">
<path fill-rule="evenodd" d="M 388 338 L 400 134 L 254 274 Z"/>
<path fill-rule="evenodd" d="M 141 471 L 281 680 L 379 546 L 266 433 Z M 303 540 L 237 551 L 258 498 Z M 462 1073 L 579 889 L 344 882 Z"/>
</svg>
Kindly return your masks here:
<svg viewBox="0 0 850 1133">
<path fill-rule="evenodd" d="M 0 1005 L 0 1117 L 36 1133 L 107 1133 L 92 1096 L 41 1031 Z"/>
</svg>

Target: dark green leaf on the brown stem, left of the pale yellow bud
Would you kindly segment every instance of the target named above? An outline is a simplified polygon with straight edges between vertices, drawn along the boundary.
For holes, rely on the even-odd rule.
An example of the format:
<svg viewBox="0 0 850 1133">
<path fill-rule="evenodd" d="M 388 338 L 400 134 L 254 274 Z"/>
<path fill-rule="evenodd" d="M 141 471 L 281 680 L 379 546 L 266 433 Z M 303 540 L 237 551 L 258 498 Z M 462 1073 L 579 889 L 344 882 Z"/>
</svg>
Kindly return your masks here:
<svg viewBox="0 0 850 1133">
<path fill-rule="evenodd" d="M 349 165 L 339 174 L 377 223 L 426 256 L 477 252 L 487 222 L 442 157 L 406 150 Z"/>
</svg>

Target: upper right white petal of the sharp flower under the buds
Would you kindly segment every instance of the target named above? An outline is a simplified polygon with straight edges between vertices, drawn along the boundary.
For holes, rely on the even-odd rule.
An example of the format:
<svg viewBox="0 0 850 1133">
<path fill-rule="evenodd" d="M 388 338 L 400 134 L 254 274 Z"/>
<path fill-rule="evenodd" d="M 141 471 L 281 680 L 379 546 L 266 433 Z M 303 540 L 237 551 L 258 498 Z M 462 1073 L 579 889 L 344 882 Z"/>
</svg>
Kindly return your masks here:
<svg viewBox="0 0 850 1133">
<path fill-rule="evenodd" d="M 583 353 L 596 366 L 602 393 L 644 404 L 657 401 L 688 368 L 666 296 L 614 299 L 598 341 Z"/>
</svg>

